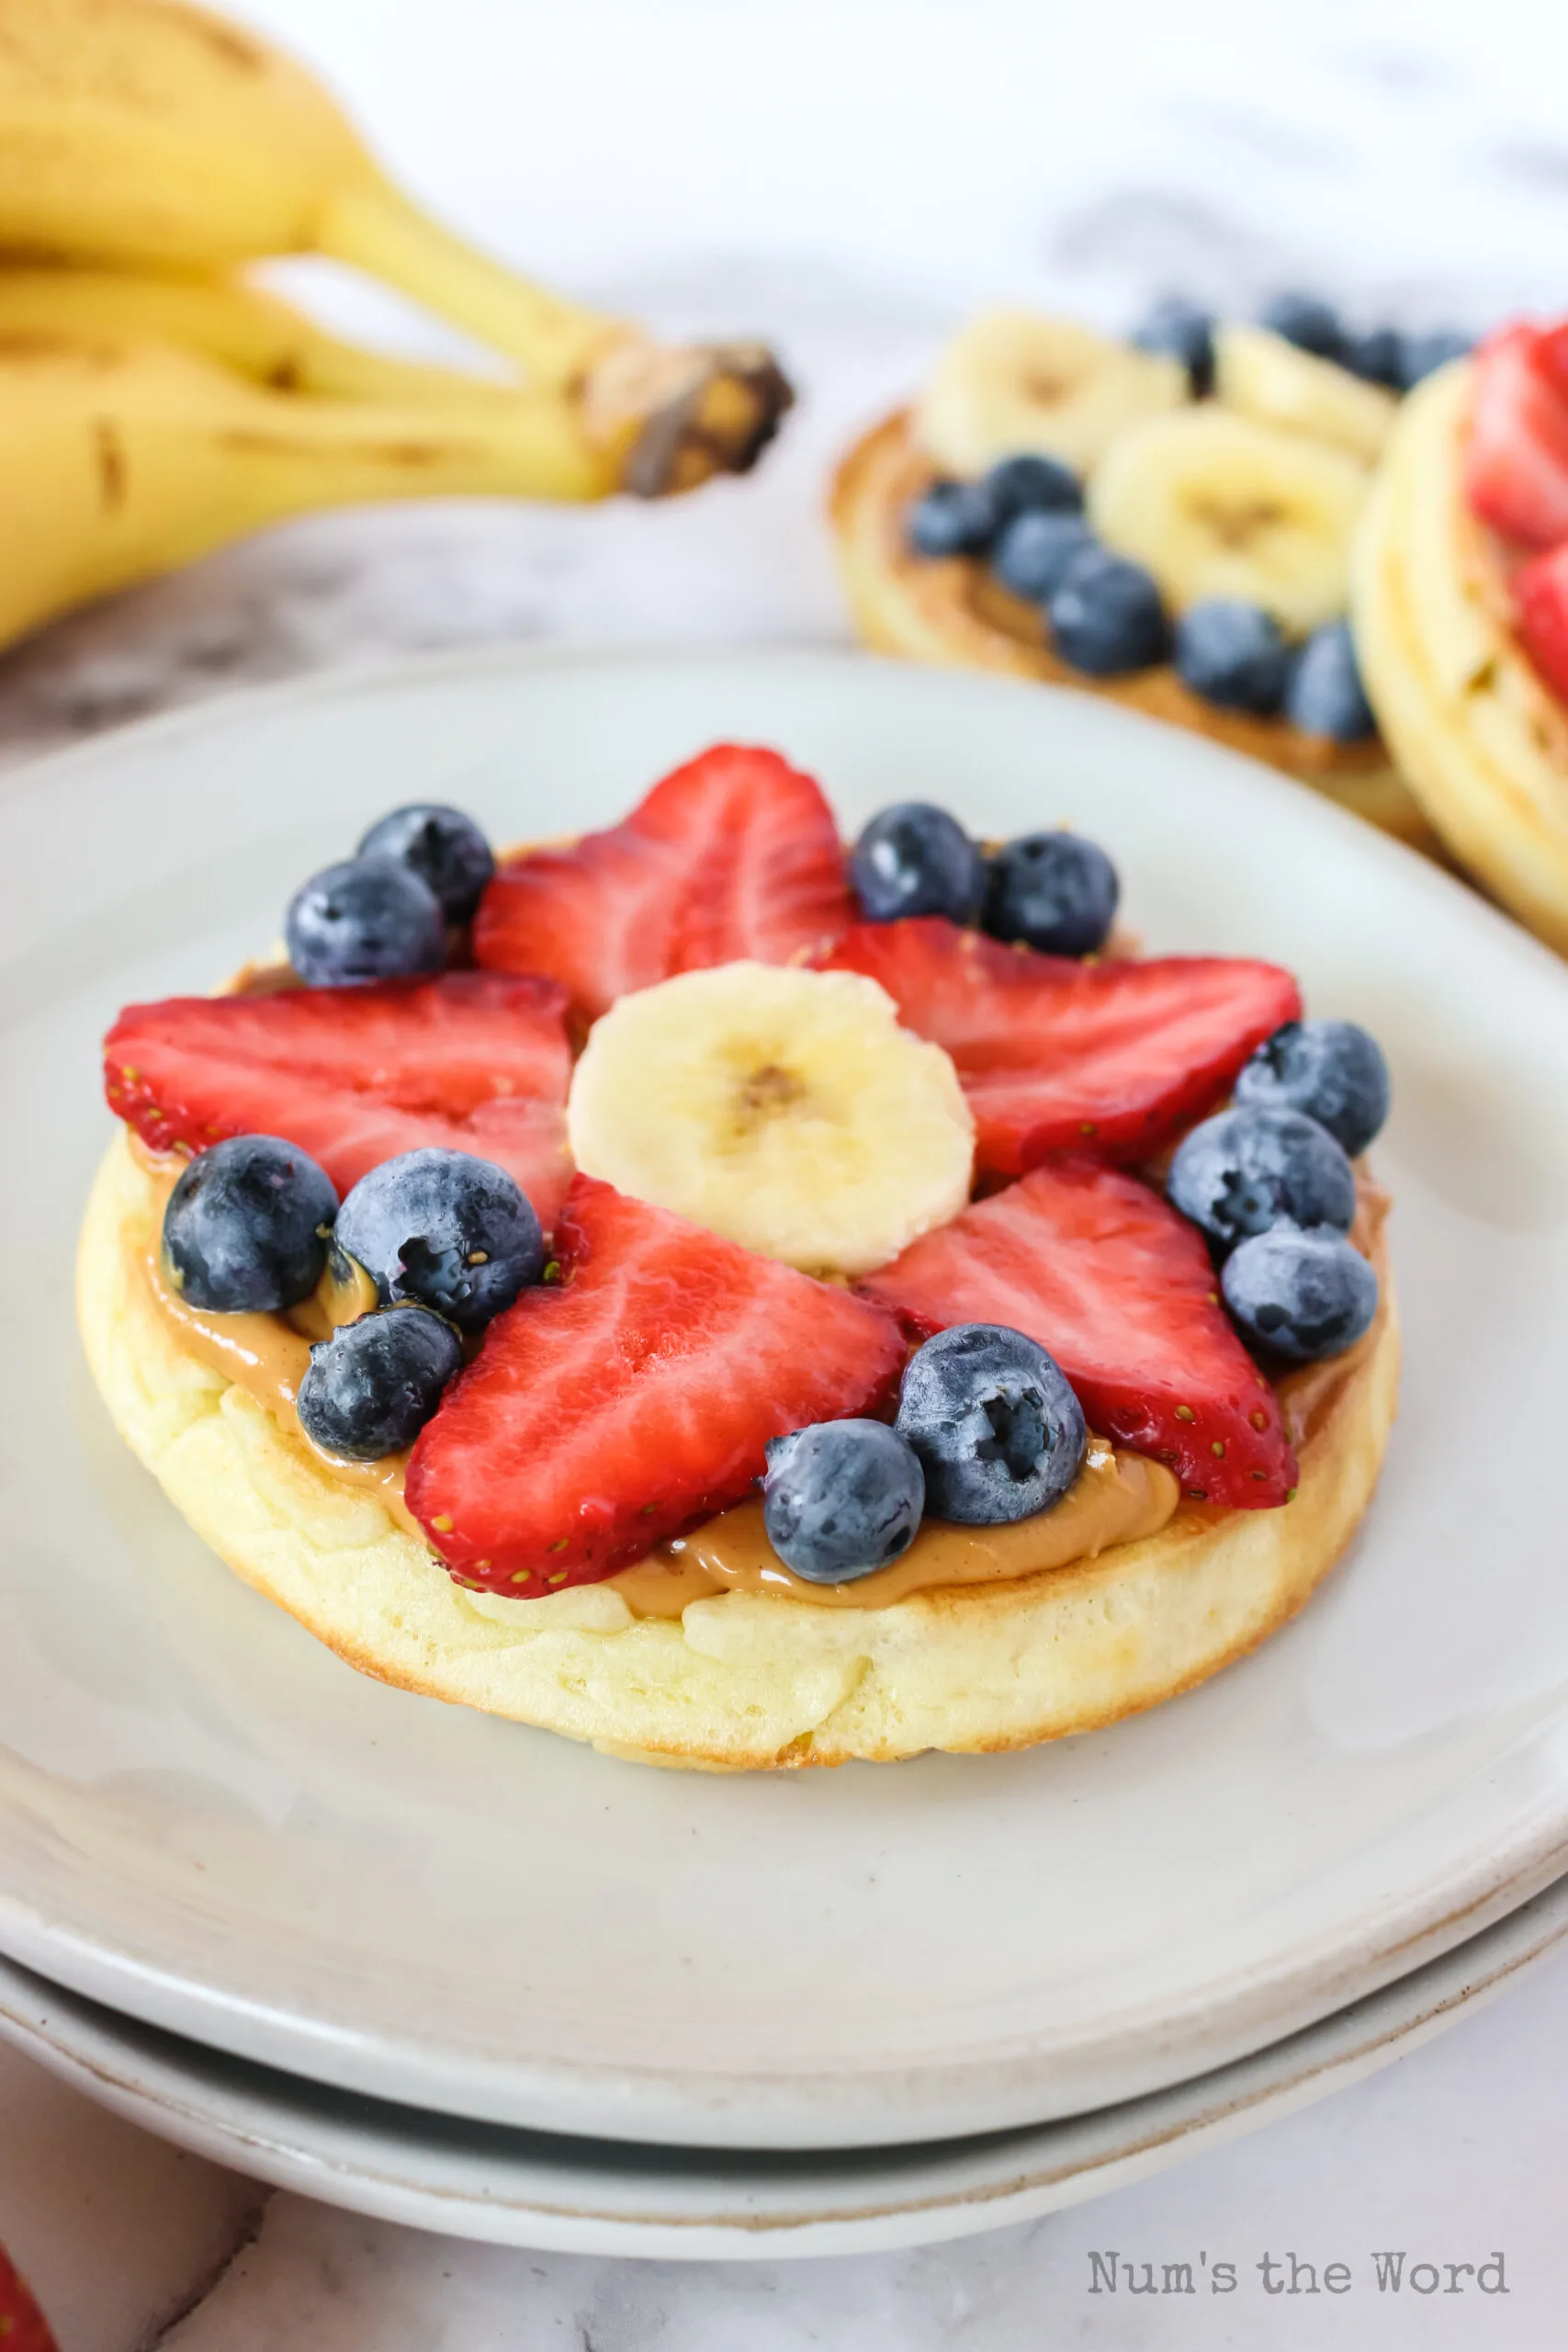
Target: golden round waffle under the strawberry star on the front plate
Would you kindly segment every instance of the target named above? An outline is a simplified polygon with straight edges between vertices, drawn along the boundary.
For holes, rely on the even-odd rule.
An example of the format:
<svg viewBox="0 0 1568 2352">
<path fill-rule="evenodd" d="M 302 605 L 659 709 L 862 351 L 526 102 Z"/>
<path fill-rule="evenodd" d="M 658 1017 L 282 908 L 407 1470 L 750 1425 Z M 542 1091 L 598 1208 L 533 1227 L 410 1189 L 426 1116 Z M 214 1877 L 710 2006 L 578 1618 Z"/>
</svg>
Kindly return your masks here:
<svg viewBox="0 0 1568 2352">
<path fill-rule="evenodd" d="M 1300 1486 L 1281 1510 L 1182 1503 L 1098 1559 L 879 1609 L 724 1592 L 679 1621 L 635 1618 L 614 1585 L 489 1599 L 181 1348 L 143 1272 L 160 1202 L 118 1136 L 82 1225 L 78 1317 L 115 1425 L 190 1526 L 362 1672 L 661 1764 L 1027 1748 L 1173 1698 L 1302 1606 L 1371 1501 L 1394 1421 L 1399 1329 L 1373 1218 L 1382 1305 L 1349 1355 L 1286 1388 Z"/>
</svg>

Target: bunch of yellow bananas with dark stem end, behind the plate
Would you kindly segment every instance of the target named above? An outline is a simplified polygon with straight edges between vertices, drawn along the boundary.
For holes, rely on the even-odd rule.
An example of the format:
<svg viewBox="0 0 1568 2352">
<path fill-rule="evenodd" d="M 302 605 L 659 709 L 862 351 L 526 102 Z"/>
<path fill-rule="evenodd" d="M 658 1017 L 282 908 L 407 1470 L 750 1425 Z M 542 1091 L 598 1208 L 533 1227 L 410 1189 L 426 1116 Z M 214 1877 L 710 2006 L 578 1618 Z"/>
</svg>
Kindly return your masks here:
<svg viewBox="0 0 1568 2352">
<path fill-rule="evenodd" d="M 0 644 L 284 515 L 743 473 L 790 386 L 529 285 L 402 195 L 289 59 L 183 0 L 0 0 Z M 322 334 L 233 273 L 376 273 L 515 383 Z"/>
</svg>

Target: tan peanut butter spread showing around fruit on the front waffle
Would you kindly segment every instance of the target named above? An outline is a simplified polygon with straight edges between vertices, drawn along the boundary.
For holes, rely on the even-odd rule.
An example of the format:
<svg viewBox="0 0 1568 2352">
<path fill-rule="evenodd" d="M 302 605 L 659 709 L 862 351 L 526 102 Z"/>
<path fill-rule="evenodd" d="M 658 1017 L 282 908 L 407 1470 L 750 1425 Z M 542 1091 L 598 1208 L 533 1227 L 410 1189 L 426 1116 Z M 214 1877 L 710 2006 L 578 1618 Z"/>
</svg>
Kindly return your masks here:
<svg viewBox="0 0 1568 2352">
<path fill-rule="evenodd" d="M 169 1284 L 158 1249 L 162 1209 L 186 1162 L 176 1155 L 148 1152 L 134 1136 L 132 1150 L 158 1188 L 155 1223 L 141 1254 L 143 1279 L 153 1305 L 174 1327 L 181 1345 L 197 1362 L 244 1388 L 334 1477 L 371 1486 L 390 1517 L 418 1543 L 428 1543 L 430 1538 L 409 1512 L 402 1494 L 407 1454 L 390 1454 L 378 1463 L 327 1456 L 310 1444 L 294 1406 L 310 1362 L 310 1343 L 374 1308 L 376 1291 L 369 1275 L 353 1268 L 350 1282 L 336 1282 L 327 1270 L 315 1294 L 287 1315 L 214 1315 L 188 1305 Z M 1385 1214 L 1385 1195 L 1361 1181 L 1352 1237 L 1368 1256 L 1375 1256 Z M 1293 1442 L 1300 1444 L 1319 1425 L 1371 1336 L 1347 1355 L 1326 1364 L 1307 1364 L 1276 1383 Z M 632 1616 L 679 1618 L 689 1602 L 733 1590 L 778 1592 L 827 1609 L 886 1609 L 912 1592 L 1009 1583 L 1063 1569 L 1074 1559 L 1095 1559 L 1117 1543 L 1135 1543 L 1159 1534 L 1175 1515 L 1178 1503 L 1180 1486 L 1164 1463 L 1091 1437 L 1084 1468 L 1053 1510 L 1016 1519 L 1009 1526 L 952 1526 L 943 1519 L 926 1519 L 900 1559 L 846 1585 L 813 1585 L 785 1569 L 766 1538 L 762 1501 L 738 1503 L 733 1510 L 719 1512 L 693 1534 L 658 1545 L 646 1559 L 621 1569 L 607 1583 L 621 1592 Z M 529 1604 L 517 1602 L 515 1606 L 527 1609 Z"/>
</svg>

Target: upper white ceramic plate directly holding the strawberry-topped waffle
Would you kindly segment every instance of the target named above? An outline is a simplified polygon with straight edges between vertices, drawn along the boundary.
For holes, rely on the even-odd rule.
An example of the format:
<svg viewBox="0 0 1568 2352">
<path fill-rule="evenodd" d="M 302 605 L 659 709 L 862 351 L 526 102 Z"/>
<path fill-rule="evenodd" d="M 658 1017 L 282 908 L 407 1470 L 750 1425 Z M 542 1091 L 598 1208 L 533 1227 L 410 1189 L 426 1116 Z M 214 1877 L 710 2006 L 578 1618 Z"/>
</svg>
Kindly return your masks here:
<svg viewBox="0 0 1568 2352">
<path fill-rule="evenodd" d="M 355 1677 L 110 1435 L 71 1327 L 96 1037 L 376 811 L 618 816 L 715 736 L 846 828 L 1072 818 L 1150 948 L 1382 1037 L 1408 1331 L 1382 1494 L 1253 1661 L 1018 1757 L 693 1778 Z M 832 654 L 484 656 L 247 696 L 0 790 L 0 1947 L 221 2049 L 604 2138 L 1086 2112 L 1262 2049 L 1568 1867 L 1568 974 L 1309 793 L 1103 701 Z"/>
</svg>

